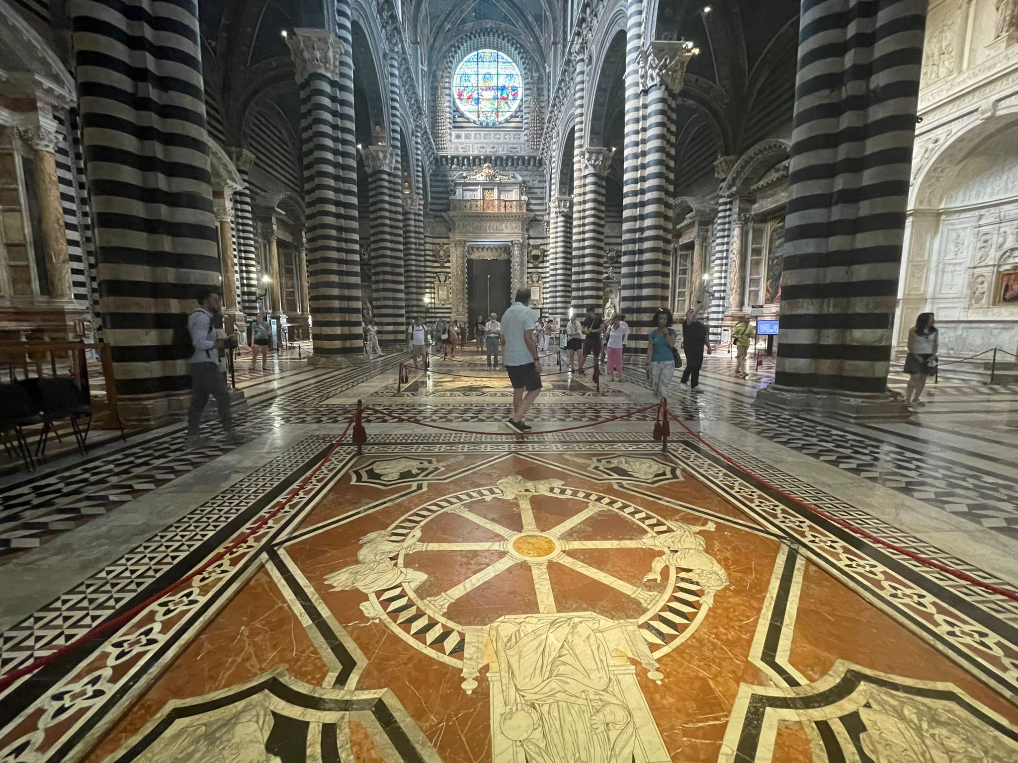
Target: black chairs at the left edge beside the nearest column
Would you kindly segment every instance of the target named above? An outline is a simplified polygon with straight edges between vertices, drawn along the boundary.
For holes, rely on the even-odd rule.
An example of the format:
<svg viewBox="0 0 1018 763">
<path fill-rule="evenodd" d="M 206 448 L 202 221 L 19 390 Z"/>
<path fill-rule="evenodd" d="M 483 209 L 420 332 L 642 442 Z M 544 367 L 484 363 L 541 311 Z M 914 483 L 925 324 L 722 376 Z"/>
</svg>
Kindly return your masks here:
<svg viewBox="0 0 1018 763">
<path fill-rule="evenodd" d="M 58 421 L 69 421 L 78 452 L 86 454 L 86 441 L 92 428 L 92 407 L 89 398 L 73 379 L 55 376 L 25 378 L 0 385 L 0 432 L 13 432 L 14 439 L 4 437 L 8 456 L 17 451 L 27 470 L 45 457 L 50 432 L 63 442 L 56 429 Z M 84 428 L 81 428 L 81 421 Z M 41 425 L 35 452 L 29 445 L 24 428 Z"/>
</svg>

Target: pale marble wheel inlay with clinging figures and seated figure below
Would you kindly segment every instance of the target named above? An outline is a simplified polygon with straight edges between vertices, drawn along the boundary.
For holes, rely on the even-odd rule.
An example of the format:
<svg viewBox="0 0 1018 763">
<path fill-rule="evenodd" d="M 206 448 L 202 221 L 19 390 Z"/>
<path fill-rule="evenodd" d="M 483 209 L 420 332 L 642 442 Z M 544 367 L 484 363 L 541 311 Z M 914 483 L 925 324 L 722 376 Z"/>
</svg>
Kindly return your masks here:
<svg viewBox="0 0 1018 763">
<path fill-rule="evenodd" d="M 538 528 L 531 502 L 539 496 L 566 505 L 554 527 Z M 604 522 L 599 527 L 605 515 L 621 519 L 621 527 L 618 521 L 610 532 Z M 439 517 L 446 518 L 445 528 L 431 532 Z M 590 732 L 589 744 L 604 748 L 602 753 L 632 745 L 636 738 L 643 749 L 663 751 L 629 660 L 661 684 L 657 658 L 696 628 L 715 593 L 728 585 L 724 569 L 704 550 L 700 533 L 714 529 L 713 522 L 667 523 L 632 504 L 571 488 L 559 479 L 510 476 L 492 487 L 432 502 L 388 530 L 365 535 L 358 564 L 328 575 L 326 583 L 334 590 L 366 593 L 361 604 L 366 615 L 416 648 L 461 666 L 467 694 L 488 665 L 496 761 L 514 760 L 513 742 L 541 755 L 544 745 L 555 743 L 535 736 L 535 729 L 561 725 L 562 714 L 577 708 L 587 713 L 566 727 Z M 446 534 L 473 538 L 478 531 L 490 539 L 444 539 Z M 651 551 L 654 557 L 638 577 L 616 577 L 615 571 L 584 562 L 584 550 Z M 429 588 L 430 570 L 477 552 L 487 555 L 472 575 L 421 593 Z M 480 609 L 457 606 L 483 584 L 520 566 L 527 568 L 536 607 L 521 611 L 512 597 Z M 631 602 L 624 611 L 630 617 L 619 617 L 618 601 L 583 589 L 557 590 L 556 566 L 619 592 Z M 576 759 L 588 759 L 580 748 Z"/>
</svg>

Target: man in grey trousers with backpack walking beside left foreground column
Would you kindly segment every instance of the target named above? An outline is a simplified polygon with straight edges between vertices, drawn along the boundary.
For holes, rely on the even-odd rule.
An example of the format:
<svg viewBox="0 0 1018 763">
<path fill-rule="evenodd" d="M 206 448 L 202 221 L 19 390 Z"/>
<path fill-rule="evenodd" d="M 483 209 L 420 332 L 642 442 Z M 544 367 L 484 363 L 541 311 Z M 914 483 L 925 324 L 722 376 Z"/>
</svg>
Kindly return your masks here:
<svg viewBox="0 0 1018 763">
<path fill-rule="evenodd" d="M 216 337 L 213 316 L 223 309 L 219 292 L 206 289 L 199 295 L 197 303 L 201 306 L 187 318 L 187 333 L 194 348 L 194 353 L 187 360 L 191 374 L 191 402 L 187 409 L 187 446 L 201 448 L 207 445 L 199 433 L 199 424 L 202 422 L 202 411 L 205 410 L 210 395 L 216 398 L 219 420 L 226 430 L 226 443 L 240 445 L 244 441 L 233 431 L 226 374 L 219 368 L 219 350 L 235 346 L 236 335 L 231 334 L 225 339 Z"/>
</svg>

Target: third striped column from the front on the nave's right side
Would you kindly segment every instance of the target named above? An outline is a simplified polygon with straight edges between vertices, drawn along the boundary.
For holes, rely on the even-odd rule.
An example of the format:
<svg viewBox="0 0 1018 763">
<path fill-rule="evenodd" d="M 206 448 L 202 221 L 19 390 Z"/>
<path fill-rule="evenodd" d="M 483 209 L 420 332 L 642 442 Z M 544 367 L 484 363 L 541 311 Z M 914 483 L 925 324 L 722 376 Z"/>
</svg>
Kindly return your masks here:
<svg viewBox="0 0 1018 763">
<path fill-rule="evenodd" d="M 583 200 L 574 209 L 572 297 L 573 310 L 581 314 L 587 307 L 599 313 L 605 298 L 605 176 L 612 164 L 611 149 L 584 149 L 576 157 L 580 166 Z"/>
</svg>

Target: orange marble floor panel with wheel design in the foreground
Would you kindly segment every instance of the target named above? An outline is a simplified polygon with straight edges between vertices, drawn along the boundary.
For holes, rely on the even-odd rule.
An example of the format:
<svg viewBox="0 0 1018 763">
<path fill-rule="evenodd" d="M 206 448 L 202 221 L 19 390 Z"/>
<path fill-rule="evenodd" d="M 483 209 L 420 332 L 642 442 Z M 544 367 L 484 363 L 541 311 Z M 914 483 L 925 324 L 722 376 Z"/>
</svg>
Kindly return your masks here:
<svg viewBox="0 0 1018 763">
<path fill-rule="evenodd" d="M 766 500 L 691 451 L 365 455 L 87 763 L 1018 761 L 1013 702 L 893 617 L 927 594 Z"/>
</svg>

